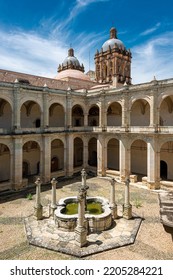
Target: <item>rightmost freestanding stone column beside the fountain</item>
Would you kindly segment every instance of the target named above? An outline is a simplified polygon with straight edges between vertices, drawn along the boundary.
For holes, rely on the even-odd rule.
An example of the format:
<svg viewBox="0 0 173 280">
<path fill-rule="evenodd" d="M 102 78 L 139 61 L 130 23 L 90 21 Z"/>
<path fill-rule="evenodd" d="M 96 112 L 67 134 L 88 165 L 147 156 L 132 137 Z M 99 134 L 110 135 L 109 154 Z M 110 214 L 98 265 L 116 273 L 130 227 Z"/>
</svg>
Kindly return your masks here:
<svg viewBox="0 0 173 280">
<path fill-rule="evenodd" d="M 129 183 L 130 179 L 127 178 L 125 182 L 125 202 L 123 205 L 123 218 L 127 220 L 132 218 L 132 205 L 130 204 Z"/>
</svg>

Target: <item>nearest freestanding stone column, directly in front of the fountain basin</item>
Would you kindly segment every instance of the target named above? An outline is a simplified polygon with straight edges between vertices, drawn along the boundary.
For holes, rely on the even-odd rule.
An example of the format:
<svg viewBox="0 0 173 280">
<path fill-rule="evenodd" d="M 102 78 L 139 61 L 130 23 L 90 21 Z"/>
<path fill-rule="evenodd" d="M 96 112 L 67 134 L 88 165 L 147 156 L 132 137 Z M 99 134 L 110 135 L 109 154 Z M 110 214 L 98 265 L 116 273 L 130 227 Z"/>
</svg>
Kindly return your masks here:
<svg viewBox="0 0 173 280">
<path fill-rule="evenodd" d="M 82 188 L 78 194 L 78 225 L 75 229 L 75 240 L 79 247 L 87 244 L 87 229 L 84 225 L 85 221 L 85 191 Z"/>
</svg>

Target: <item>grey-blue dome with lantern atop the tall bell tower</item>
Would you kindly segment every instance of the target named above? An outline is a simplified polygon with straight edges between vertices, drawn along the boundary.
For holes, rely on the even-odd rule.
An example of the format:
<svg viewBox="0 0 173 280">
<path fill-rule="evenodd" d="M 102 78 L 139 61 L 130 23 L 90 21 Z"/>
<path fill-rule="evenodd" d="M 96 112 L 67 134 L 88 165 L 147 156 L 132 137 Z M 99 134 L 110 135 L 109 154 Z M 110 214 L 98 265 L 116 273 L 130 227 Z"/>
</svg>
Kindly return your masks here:
<svg viewBox="0 0 173 280">
<path fill-rule="evenodd" d="M 109 48 L 114 48 L 115 44 L 118 46 L 118 48 L 125 49 L 125 46 L 121 40 L 117 38 L 117 31 L 115 28 L 111 28 L 110 30 L 110 39 L 104 42 L 102 45 L 102 49 L 104 52 L 108 51 Z"/>
</svg>

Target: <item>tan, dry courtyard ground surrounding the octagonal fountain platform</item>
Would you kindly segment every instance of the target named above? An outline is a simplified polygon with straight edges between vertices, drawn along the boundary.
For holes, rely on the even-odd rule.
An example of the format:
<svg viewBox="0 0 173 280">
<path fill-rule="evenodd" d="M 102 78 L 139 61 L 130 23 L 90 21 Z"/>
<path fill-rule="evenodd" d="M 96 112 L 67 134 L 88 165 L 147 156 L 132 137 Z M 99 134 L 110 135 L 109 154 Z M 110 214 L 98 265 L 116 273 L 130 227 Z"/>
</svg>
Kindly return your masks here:
<svg viewBox="0 0 173 280">
<path fill-rule="evenodd" d="M 77 195 L 81 184 L 80 176 L 58 182 L 57 201 L 60 198 Z M 89 196 L 110 197 L 110 182 L 105 178 L 87 177 Z M 163 191 L 163 190 L 161 190 Z M 124 184 L 116 183 L 116 203 L 124 203 Z M 28 199 L 28 198 L 32 199 Z M 51 187 L 41 193 L 44 211 L 51 200 Z M 173 241 L 160 223 L 158 191 L 148 190 L 142 185 L 130 185 L 130 202 L 133 215 L 142 218 L 135 241 L 128 246 L 99 252 L 84 257 L 89 260 L 172 260 Z M 74 256 L 29 245 L 25 231 L 25 218 L 34 212 L 35 195 L 24 195 L 0 204 L 0 259 L 1 260 L 70 260 Z M 109 237 L 108 237 L 109 238 Z"/>
</svg>

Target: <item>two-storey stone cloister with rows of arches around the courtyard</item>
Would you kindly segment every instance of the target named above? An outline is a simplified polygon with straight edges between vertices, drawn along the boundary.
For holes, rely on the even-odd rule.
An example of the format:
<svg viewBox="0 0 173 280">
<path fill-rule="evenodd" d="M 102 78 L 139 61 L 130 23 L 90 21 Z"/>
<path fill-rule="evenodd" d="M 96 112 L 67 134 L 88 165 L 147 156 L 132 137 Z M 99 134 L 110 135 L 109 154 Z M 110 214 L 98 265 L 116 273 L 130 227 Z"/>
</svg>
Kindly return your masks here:
<svg viewBox="0 0 173 280">
<path fill-rule="evenodd" d="M 82 168 L 158 188 L 173 180 L 172 133 L 172 80 L 87 91 L 1 83 L 0 189 Z"/>
</svg>

